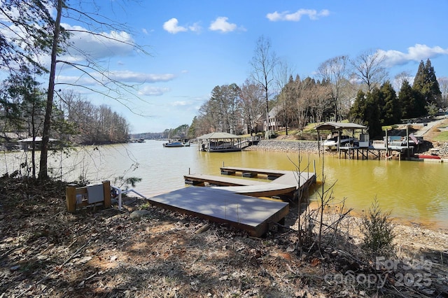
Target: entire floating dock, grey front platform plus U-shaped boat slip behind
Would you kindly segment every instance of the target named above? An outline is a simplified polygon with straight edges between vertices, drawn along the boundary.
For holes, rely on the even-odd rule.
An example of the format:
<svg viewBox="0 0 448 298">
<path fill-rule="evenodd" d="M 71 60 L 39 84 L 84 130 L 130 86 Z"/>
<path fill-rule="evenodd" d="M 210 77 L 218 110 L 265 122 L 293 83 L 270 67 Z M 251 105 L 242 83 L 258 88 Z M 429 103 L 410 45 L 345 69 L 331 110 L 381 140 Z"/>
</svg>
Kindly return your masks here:
<svg viewBox="0 0 448 298">
<path fill-rule="evenodd" d="M 186 184 L 192 186 L 148 198 L 148 201 L 155 206 L 225 223 L 260 237 L 276 222 L 284 223 L 289 204 L 259 197 L 293 197 L 295 191 L 316 182 L 316 174 L 308 172 L 223 166 L 221 174 L 185 175 Z"/>
</svg>

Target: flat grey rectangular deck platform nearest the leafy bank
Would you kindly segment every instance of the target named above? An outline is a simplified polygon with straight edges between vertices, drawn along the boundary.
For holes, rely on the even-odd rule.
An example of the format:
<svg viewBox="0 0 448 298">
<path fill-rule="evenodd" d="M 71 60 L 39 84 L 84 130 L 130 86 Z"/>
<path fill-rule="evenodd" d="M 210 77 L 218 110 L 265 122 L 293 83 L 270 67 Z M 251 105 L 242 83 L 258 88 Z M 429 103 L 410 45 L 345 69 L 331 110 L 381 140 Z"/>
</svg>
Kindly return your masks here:
<svg viewBox="0 0 448 298">
<path fill-rule="evenodd" d="M 225 223 L 260 237 L 274 222 L 283 223 L 288 203 L 258 199 L 212 187 L 185 187 L 148 198 L 162 208 Z"/>
</svg>

